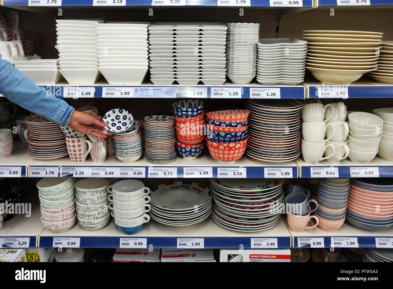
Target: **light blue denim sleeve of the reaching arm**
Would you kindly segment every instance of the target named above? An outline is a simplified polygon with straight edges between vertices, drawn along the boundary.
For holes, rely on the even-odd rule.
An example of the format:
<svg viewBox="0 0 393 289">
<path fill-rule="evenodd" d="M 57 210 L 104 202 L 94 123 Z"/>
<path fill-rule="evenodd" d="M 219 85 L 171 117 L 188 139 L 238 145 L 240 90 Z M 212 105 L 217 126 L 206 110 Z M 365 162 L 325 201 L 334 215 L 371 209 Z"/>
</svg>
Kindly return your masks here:
<svg viewBox="0 0 393 289">
<path fill-rule="evenodd" d="M 44 87 L 37 86 L 10 62 L 1 58 L 0 94 L 24 109 L 45 116 L 61 126 L 67 125 L 74 111 L 64 100 L 56 98 Z"/>
</svg>

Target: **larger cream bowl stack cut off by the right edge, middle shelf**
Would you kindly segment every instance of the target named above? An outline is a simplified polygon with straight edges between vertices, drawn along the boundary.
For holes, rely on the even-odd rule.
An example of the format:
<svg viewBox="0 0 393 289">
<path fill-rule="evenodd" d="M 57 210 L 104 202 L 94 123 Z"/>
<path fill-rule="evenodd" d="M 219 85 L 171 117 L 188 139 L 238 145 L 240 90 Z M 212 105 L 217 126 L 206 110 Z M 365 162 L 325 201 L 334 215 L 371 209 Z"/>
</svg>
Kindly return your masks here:
<svg viewBox="0 0 393 289">
<path fill-rule="evenodd" d="M 393 107 L 373 109 L 373 114 L 384 120 L 378 156 L 393 161 Z"/>
</svg>

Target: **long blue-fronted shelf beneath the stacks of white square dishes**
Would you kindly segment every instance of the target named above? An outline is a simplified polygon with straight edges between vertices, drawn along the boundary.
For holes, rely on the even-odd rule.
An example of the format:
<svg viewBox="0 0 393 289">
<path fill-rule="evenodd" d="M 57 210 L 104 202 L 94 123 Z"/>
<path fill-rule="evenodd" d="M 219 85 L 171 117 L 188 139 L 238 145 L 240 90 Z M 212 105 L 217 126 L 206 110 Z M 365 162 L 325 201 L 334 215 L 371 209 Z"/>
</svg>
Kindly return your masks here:
<svg viewBox="0 0 393 289">
<path fill-rule="evenodd" d="M 303 85 L 265 86 L 256 81 L 238 85 L 110 85 L 100 80 L 94 85 L 70 85 L 66 82 L 42 85 L 58 98 L 282 98 L 305 99 Z"/>
</svg>

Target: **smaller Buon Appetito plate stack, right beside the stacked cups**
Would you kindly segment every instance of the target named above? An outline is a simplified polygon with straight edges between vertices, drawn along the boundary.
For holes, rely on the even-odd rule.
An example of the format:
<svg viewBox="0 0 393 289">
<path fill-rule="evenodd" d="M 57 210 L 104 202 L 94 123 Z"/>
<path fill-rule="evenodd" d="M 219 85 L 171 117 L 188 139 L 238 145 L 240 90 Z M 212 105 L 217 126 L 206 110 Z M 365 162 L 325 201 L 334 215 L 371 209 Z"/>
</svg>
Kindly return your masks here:
<svg viewBox="0 0 393 289">
<path fill-rule="evenodd" d="M 189 226 L 208 218 L 211 191 L 194 182 L 167 182 L 152 188 L 150 216 L 169 226 Z"/>
</svg>

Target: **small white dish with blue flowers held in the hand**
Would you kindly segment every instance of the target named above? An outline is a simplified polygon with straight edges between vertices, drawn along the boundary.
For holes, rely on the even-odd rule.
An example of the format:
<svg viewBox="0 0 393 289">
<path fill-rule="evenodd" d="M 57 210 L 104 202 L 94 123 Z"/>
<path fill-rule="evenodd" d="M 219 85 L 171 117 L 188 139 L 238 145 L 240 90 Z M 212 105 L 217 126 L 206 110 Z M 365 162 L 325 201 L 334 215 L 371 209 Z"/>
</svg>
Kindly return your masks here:
<svg viewBox="0 0 393 289">
<path fill-rule="evenodd" d="M 103 117 L 103 122 L 108 122 L 109 125 L 105 127 L 112 133 L 123 133 L 128 131 L 134 123 L 134 118 L 131 112 L 125 109 L 109 110 Z"/>
</svg>

